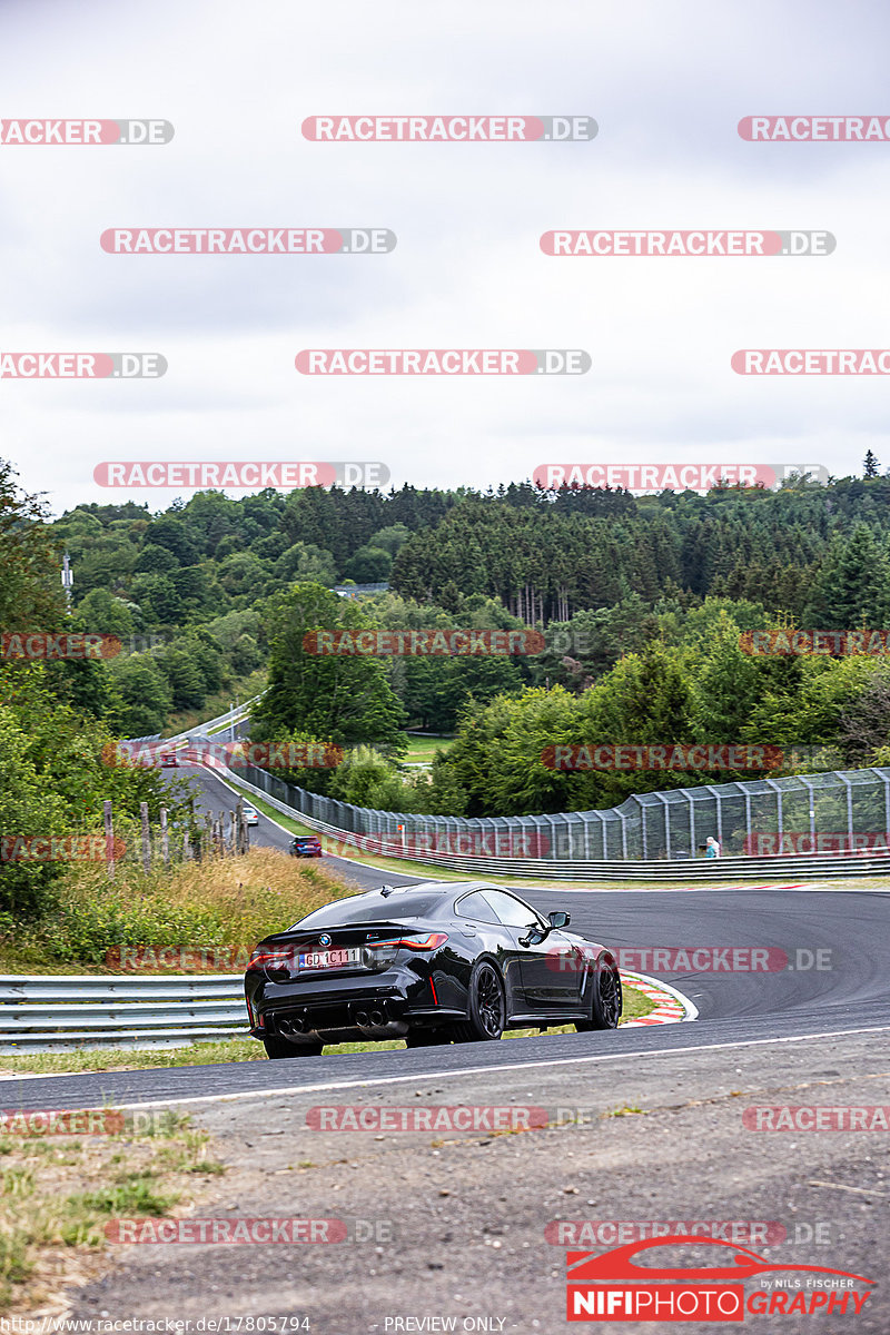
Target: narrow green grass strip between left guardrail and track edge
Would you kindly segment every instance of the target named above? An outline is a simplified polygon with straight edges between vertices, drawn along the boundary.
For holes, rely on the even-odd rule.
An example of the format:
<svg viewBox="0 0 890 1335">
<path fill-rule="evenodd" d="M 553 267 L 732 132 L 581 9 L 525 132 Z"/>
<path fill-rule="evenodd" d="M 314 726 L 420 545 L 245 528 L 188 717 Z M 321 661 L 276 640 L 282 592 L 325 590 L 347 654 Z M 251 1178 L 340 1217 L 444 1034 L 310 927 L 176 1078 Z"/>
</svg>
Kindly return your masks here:
<svg viewBox="0 0 890 1335">
<path fill-rule="evenodd" d="M 639 1020 L 654 1011 L 654 1003 L 630 985 L 624 987 L 626 1020 Z M 550 1033 L 574 1033 L 575 1027 L 564 1024 Z M 536 1029 L 511 1029 L 507 1039 L 538 1037 Z M 339 1043 L 324 1049 L 326 1056 L 350 1052 L 392 1052 L 403 1049 L 402 1039 L 384 1043 Z M 145 1052 L 41 1052 L 33 1056 L 0 1055 L 0 1076 L 13 1075 L 67 1075 L 80 1071 L 141 1071 L 149 1067 L 207 1067 L 226 1061 L 266 1060 L 266 1049 L 256 1039 L 230 1039 L 224 1043 L 196 1043 L 191 1048 L 156 1048 Z"/>
</svg>

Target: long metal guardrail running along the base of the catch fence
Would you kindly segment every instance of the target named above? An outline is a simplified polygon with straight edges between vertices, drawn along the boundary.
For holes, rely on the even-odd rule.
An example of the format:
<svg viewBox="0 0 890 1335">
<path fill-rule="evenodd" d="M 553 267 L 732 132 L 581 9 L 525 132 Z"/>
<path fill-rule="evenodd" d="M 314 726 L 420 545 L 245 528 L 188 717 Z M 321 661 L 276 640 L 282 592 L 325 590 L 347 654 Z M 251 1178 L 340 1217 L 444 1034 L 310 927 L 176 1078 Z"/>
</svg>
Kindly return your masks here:
<svg viewBox="0 0 890 1335">
<path fill-rule="evenodd" d="M 251 766 L 252 768 L 252 766 Z M 579 860 L 579 858 L 532 858 L 494 857 L 462 854 L 460 852 L 423 850 L 418 846 L 416 833 L 412 846 L 406 848 L 402 840 L 379 834 L 356 834 L 336 825 L 320 821 L 295 806 L 274 797 L 267 789 L 250 784 L 230 769 L 213 766 L 209 770 L 216 778 L 260 797 L 283 816 L 299 821 L 308 829 L 328 834 L 356 852 L 376 853 L 380 857 L 400 858 L 422 865 L 443 866 L 455 872 L 472 872 L 479 876 L 515 876 L 535 880 L 556 881 L 743 881 L 762 877 L 838 877 L 838 876 L 890 876 L 890 857 L 867 853 L 797 853 L 771 857 L 719 857 L 719 858 L 677 858 L 677 860 Z M 420 820 L 422 817 L 419 817 Z M 455 834 L 459 848 L 460 834 Z M 330 852 L 330 850 L 328 850 Z M 382 880 L 384 873 L 380 873 Z"/>
</svg>

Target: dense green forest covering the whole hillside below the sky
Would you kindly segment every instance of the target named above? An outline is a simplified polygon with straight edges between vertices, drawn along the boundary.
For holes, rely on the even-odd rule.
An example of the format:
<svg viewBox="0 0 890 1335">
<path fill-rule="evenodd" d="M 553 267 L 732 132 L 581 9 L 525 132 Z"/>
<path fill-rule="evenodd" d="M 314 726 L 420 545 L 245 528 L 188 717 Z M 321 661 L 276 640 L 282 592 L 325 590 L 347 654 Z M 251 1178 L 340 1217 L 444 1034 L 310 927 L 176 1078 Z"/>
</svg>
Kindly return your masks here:
<svg viewBox="0 0 890 1335">
<path fill-rule="evenodd" d="M 527 482 L 484 494 L 205 491 L 159 513 L 84 505 L 51 519 L 0 465 L 3 629 L 104 631 L 124 646 L 107 662 L 0 663 L 0 781 L 19 776 L 0 817 L 5 828 L 37 810 L 59 828 L 96 822 L 112 778 L 92 757 L 109 737 L 169 730 L 175 712 L 263 690 L 258 740 L 346 749 L 339 769 L 292 780 L 395 810 L 586 809 L 731 777 L 551 770 L 542 753 L 563 742 L 823 749 L 783 772 L 881 764 L 882 657 L 753 658 L 739 642 L 766 627 L 890 625 L 890 477 L 874 459 L 865 473 L 707 495 Z M 388 591 L 332 591 L 350 581 Z M 543 631 L 543 651 L 344 659 L 312 657 L 302 641 L 335 626 L 523 625 Z M 406 728 L 456 736 L 431 770 L 410 773 Z M 155 781 L 115 774 L 115 798 L 156 808 Z"/>
</svg>

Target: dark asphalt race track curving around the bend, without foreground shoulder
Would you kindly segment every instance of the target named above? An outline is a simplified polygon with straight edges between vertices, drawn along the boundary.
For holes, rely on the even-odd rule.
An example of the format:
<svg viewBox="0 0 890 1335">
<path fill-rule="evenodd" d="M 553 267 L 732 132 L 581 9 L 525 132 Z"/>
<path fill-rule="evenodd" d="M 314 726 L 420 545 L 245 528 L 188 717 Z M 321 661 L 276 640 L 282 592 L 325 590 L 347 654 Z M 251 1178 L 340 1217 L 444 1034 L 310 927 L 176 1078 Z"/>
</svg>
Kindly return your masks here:
<svg viewBox="0 0 890 1335">
<path fill-rule="evenodd" d="M 191 770 L 200 788 L 201 809 L 228 812 L 231 790 L 204 770 Z M 260 814 L 251 840 L 286 849 L 290 836 Z M 382 884 L 407 885 L 416 877 L 379 872 L 360 864 L 324 857 L 323 862 L 362 888 Z M 431 880 L 435 869 L 431 868 Z M 658 973 L 695 1001 L 694 1025 L 628 1029 L 618 1033 L 558 1036 L 354 1056 L 322 1056 L 300 1064 L 235 1063 L 224 1067 L 180 1067 L 169 1071 L 111 1072 L 0 1081 L 5 1107 L 44 1107 L 49 1088 L 53 1097 L 72 1107 L 97 1100 L 141 1103 L 169 1097 L 216 1097 L 224 1092 L 272 1089 L 306 1081 L 360 1080 L 403 1076 L 426 1071 L 459 1071 L 472 1056 L 474 1067 L 496 1069 L 503 1064 L 570 1060 L 647 1053 L 664 1048 L 703 1047 L 791 1039 L 837 1031 L 890 1027 L 890 896 L 883 892 L 839 890 L 701 890 L 687 894 L 670 889 L 584 890 L 563 893 L 535 889 L 530 882 L 518 893 L 536 908 L 559 906 L 571 913 L 572 929 L 615 948 L 761 947 L 783 951 L 789 967 L 781 972 Z M 288 924 L 270 924 L 280 930 Z M 627 961 L 624 961 L 627 964 Z M 719 963 L 719 961 L 718 961 Z M 731 957 L 727 957 L 731 963 Z M 743 961 L 745 963 L 745 961 Z M 647 957 L 636 956 L 630 968 L 655 972 Z M 798 965 L 803 965 L 798 968 Z M 13 1095 L 15 1089 L 15 1095 Z"/>
</svg>

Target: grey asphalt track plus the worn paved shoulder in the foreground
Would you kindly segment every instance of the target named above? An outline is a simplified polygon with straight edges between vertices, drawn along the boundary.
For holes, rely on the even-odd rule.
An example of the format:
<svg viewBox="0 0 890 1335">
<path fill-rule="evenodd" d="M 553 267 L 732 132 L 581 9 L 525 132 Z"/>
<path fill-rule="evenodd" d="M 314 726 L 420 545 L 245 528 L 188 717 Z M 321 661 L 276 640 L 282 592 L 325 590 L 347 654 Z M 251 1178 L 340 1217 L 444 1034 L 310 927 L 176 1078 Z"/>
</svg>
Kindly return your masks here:
<svg viewBox="0 0 890 1335">
<path fill-rule="evenodd" d="M 195 772 L 193 782 L 205 809 L 231 809 L 234 797 L 215 777 Z M 251 837 L 276 848 L 290 838 L 264 817 Z M 362 886 L 412 880 L 340 858 L 324 864 Z M 746 1328 L 886 1335 L 889 1133 L 757 1135 L 743 1113 L 750 1105 L 890 1101 L 887 893 L 558 892 L 531 884 L 519 893 L 544 912 L 566 908 L 572 928 L 612 948 L 722 948 L 731 961 L 733 948 L 754 947 L 774 952 L 778 964 L 775 952 L 785 952 L 787 967 L 663 973 L 644 956 L 623 960 L 690 996 L 701 1016 L 694 1024 L 0 1081 L 5 1108 L 176 1104 L 191 1112 L 228 1164 L 213 1199 L 196 1210 L 200 1218 L 336 1216 L 378 1230 L 378 1246 L 359 1246 L 356 1231 L 355 1246 L 335 1248 L 238 1247 L 234 1255 L 223 1246 L 172 1246 L 163 1259 L 156 1247 L 125 1248 L 105 1278 L 72 1294 L 71 1315 L 197 1322 L 304 1314 L 314 1335 L 450 1328 L 551 1335 L 572 1328 L 566 1324 L 571 1242 L 554 1246 L 548 1222 L 767 1220 L 785 1240 L 749 1246 L 770 1262 L 853 1271 L 877 1287 L 857 1315 L 749 1308 Z M 440 1139 L 323 1133 L 307 1117 L 314 1105 L 424 1103 L 534 1103 L 586 1113 L 583 1124 L 524 1135 Z M 603 1251 L 614 1242 L 592 1246 Z M 793 1282 L 793 1272 L 786 1278 Z M 759 1283 L 747 1280 L 746 1300 Z M 440 1324 L 411 1326 L 408 1318 Z M 452 1319 L 456 1324 L 442 1324 Z M 462 1324 L 467 1320 L 476 1324 Z M 726 1330 L 683 1320 L 596 1324 L 650 1335 Z M 209 1327 L 192 1324 L 201 1328 Z"/>
</svg>

